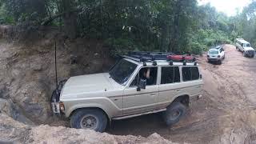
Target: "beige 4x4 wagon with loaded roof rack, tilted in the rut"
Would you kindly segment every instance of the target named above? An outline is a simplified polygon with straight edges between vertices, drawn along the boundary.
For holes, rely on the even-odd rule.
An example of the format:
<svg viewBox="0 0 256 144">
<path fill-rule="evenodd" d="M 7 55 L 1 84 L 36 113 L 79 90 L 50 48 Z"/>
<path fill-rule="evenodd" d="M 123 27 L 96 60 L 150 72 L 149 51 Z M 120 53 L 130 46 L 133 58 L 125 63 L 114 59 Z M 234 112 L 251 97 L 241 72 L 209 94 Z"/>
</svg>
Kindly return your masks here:
<svg viewBox="0 0 256 144">
<path fill-rule="evenodd" d="M 54 113 L 70 118 L 71 127 L 100 132 L 111 120 L 157 112 L 167 125 L 178 122 L 200 95 L 202 75 L 196 62 L 173 62 L 166 55 L 130 54 L 109 73 L 68 79 L 54 91 Z"/>
</svg>

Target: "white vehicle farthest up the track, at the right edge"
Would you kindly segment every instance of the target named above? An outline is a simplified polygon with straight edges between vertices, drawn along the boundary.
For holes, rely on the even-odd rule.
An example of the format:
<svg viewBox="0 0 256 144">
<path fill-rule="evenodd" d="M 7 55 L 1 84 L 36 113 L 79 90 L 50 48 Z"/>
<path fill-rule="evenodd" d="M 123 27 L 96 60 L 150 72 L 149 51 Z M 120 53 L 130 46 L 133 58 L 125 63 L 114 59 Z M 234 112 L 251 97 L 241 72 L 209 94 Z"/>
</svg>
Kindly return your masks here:
<svg viewBox="0 0 256 144">
<path fill-rule="evenodd" d="M 238 51 L 242 51 L 244 57 L 254 58 L 255 50 L 251 47 L 250 42 L 243 38 L 237 38 L 235 46 Z"/>
</svg>

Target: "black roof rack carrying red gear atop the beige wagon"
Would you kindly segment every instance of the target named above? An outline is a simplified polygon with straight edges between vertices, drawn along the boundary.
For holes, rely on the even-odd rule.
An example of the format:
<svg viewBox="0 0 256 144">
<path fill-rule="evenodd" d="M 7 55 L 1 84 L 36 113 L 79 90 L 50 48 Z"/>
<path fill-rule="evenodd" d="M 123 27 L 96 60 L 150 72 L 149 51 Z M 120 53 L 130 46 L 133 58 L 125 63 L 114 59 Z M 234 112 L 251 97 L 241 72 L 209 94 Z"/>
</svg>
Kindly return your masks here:
<svg viewBox="0 0 256 144">
<path fill-rule="evenodd" d="M 127 55 L 124 55 L 123 58 L 129 58 L 136 62 L 143 62 L 143 65 L 146 65 L 146 62 L 153 62 L 153 65 L 157 65 L 157 60 L 166 60 L 170 62 L 170 65 L 173 65 L 173 62 L 183 62 L 183 65 L 186 66 L 186 62 L 194 62 L 197 64 L 196 58 L 190 55 L 176 55 L 174 53 L 166 52 L 129 52 Z"/>
</svg>

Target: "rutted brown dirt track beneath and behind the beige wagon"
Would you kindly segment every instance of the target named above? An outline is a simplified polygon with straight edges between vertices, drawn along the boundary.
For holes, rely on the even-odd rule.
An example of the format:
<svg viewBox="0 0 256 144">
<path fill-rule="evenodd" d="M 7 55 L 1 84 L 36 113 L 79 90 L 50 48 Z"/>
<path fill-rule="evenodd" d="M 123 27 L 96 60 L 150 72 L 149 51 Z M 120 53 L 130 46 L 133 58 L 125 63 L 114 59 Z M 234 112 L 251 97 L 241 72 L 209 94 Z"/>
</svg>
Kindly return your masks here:
<svg viewBox="0 0 256 144">
<path fill-rule="evenodd" d="M 203 97 L 190 104 L 186 117 L 166 127 L 160 114 L 113 122 L 110 134 L 149 136 L 172 142 L 256 143 L 256 58 L 244 58 L 226 45 L 222 65 L 198 58 L 204 78 Z"/>
</svg>

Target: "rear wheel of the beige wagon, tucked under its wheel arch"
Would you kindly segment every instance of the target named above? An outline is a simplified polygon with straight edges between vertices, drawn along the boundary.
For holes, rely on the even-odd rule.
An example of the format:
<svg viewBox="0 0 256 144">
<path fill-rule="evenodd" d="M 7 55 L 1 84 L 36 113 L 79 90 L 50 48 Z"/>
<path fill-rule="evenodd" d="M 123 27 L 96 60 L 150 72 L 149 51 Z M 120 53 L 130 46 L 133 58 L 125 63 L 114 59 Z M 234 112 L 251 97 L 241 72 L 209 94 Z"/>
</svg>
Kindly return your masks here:
<svg viewBox="0 0 256 144">
<path fill-rule="evenodd" d="M 163 120 L 167 126 L 174 125 L 186 114 L 186 106 L 181 102 L 173 102 L 167 107 L 167 110 L 162 113 Z"/>
</svg>

